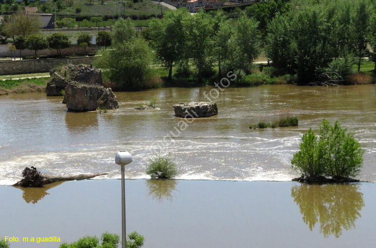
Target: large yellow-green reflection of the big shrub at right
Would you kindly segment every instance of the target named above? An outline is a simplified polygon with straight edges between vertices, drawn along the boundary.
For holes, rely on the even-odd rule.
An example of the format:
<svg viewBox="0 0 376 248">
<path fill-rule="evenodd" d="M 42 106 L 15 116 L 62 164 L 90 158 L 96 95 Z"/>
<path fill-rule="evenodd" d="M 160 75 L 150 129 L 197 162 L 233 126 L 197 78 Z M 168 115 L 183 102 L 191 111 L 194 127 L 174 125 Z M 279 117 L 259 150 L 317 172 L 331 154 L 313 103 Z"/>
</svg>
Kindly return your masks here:
<svg viewBox="0 0 376 248">
<path fill-rule="evenodd" d="M 320 222 L 324 237 L 342 235 L 342 229 L 355 228 L 355 220 L 364 206 L 359 184 L 326 184 L 293 186 L 291 196 L 298 204 L 303 221 L 312 228 Z"/>
</svg>

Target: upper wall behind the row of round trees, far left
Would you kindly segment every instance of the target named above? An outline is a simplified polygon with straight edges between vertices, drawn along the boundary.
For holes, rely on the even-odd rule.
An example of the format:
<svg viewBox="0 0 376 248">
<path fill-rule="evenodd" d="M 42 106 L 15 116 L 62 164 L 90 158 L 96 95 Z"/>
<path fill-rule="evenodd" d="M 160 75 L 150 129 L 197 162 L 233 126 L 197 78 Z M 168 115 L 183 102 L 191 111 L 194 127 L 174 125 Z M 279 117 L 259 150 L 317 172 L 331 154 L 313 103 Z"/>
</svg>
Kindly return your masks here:
<svg viewBox="0 0 376 248">
<path fill-rule="evenodd" d="M 14 57 L 14 54 L 11 53 L 9 50 L 8 45 L 0 45 L 0 57 Z M 91 45 L 87 48 L 88 53 L 96 53 L 98 51 L 97 45 Z M 37 56 L 46 55 L 46 56 L 55 56 L 56 50 L 55 49 L 44 49 L 37 51 Z M 71 45 L 69 48 L 65 48 L 61 50 L 62 56 L 72 56 L 72 55 L 85 55 L 85 49 L 78 46 L 77 44 Z M 31 57 L 35 56 L 35 51 L 25 49 L 21 51 L 22 57 Z M 20 58 L 20 50 L 16 50 L 16 58 Z"/>
</svg>

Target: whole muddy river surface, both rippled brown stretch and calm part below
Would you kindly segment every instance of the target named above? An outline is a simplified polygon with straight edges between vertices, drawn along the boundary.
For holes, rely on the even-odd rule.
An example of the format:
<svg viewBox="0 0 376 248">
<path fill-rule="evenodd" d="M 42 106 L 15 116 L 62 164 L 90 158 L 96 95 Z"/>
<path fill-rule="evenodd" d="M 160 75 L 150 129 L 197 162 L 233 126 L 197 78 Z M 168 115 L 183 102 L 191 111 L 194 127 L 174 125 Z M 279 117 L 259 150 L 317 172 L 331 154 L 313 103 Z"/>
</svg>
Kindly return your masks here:
<svg viewBox="0 0 376 248">
<path fill-rule="evenodd" d="M 376 184 L 287 181 L 298 176 L 290 160 L 302 135 L 325 117 L 360 139 L 365 153 L 359 178 L 376 182 L 375 85 L 226 88 L 212 98 L 218 115 L 182 130 L 172 105 L 205 101 L 211 89 L 117 92 L 119 109 L 106 113 L 67 112 L 61 97 L 43 93 L 0 96 L 0 239 L 57 236 L 72 242 L 104 231 L 120 234 L 120 180 L 41 189 L 5 185 L 19 180 L 26 166 L 46 174 L 107 172 L 101 178 L 119 178 L 114 157 L 127 150 L 134 158 L 127 179 L 148 178 L 144 161 L 154 153 L 171 156 L 178 179 L 198 179 L 126 181 L 127 232 L 144 235 L 145 248 L 374 246 Z M 153 96 L 157 109 L 134 109 Z M 299 127 L 249 129 L 286 112 L 299 118 Z M 171 142 L 167 135 L 173 134 Z M 14 242 L 11 248 L 59 245 Z"/>
</svg>

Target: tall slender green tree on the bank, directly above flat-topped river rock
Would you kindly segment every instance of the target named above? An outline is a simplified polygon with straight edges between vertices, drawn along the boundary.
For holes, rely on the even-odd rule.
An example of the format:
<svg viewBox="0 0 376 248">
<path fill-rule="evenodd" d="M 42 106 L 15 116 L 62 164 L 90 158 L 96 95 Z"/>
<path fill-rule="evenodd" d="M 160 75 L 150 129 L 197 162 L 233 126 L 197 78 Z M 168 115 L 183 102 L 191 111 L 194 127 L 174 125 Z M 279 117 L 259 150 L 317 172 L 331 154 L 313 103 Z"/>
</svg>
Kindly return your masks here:
<svg viewBox="0 0 376 248">
<path fill-rule="evenodd" d="M 201 81 L 203 72 L 209 71 L 213 67 L 214 23 L 210 15 L 204 11 L 190 16 L 185 22 L 187 49 L 190 51 L 190 57 L 196 63 L 199 70 L 198 78 Z"/>
</svg>

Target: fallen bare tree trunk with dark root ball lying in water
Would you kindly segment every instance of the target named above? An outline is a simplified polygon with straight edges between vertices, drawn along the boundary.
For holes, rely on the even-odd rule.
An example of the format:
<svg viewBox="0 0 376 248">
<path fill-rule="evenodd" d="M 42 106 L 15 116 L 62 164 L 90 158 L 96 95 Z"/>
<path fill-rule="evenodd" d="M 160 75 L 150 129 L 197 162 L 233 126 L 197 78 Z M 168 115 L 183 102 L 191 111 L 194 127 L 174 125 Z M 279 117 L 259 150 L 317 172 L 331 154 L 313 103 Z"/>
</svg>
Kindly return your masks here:
<svg viewBox="0 0 376 248">
<path fill-rule="evenodd" d="M 43 176 L 35 167 L 28 168 L 22 172 L 24 178 L 15 183 L 13 186 L 22 186 L 22 187 L 42 187 L 45 184 L 60 182 L 60 181 L 74 181 L 74 180 L 84 180 L 90 179 L 97 176 L 108 175 L 108 173 L 96 173 L 96 174 L 80 174 L 76 176 L 52 176 L 45 177 Z"/>
</svg>

